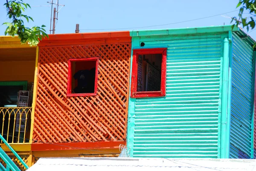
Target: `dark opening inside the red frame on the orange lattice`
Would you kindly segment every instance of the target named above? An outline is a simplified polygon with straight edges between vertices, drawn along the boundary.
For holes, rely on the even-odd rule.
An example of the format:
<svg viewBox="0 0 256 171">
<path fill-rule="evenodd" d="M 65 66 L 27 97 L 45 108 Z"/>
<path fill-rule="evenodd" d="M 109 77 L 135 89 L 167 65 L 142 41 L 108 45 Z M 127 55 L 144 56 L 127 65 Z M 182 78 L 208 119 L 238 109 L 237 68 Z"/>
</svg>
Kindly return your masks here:
<svg viewBox="0 0 256 171">
<path fill-rule="evenodd" d="M 94 93 L 96 61 L 72 61 L 71 93 Z"/>
</svg>

